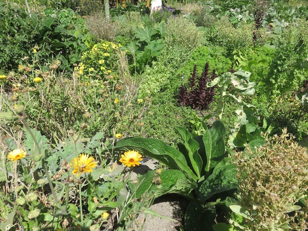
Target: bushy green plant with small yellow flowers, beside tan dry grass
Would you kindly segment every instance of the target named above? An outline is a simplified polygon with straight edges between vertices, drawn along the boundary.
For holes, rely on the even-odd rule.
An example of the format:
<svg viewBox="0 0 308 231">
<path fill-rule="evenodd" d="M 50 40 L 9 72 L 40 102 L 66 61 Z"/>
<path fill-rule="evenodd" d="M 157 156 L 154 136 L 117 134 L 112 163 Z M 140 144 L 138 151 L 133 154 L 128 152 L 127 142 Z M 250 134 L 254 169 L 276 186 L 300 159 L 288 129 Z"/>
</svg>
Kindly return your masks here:
<svg viewBox="0 0 308 231">
<path fill-rule="evenodd" d="M 81 62 L 74 68 L 75 74 L 85 78 L 113 79 L 117 71 L 117 52 L 121 47 L 121 44 L 112 42 L 95 44 L 81 56 Z"/>
</svg>

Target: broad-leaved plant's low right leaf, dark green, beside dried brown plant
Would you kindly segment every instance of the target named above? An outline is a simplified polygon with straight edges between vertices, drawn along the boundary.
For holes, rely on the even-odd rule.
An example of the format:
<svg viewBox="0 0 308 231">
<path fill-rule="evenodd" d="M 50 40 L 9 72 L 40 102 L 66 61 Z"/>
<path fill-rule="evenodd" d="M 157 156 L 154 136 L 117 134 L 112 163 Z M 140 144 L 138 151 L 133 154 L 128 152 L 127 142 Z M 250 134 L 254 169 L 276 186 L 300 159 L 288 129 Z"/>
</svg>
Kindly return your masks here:
<svg viewBox="0 0 308 231">
<path fill-rule="evenodd" d="M 198 198 L 206 201 L 214 194 L 237 188 L 236 170 L 233 164 L 214 168 L 213 173 L 199 187 Z"/>
</svg>

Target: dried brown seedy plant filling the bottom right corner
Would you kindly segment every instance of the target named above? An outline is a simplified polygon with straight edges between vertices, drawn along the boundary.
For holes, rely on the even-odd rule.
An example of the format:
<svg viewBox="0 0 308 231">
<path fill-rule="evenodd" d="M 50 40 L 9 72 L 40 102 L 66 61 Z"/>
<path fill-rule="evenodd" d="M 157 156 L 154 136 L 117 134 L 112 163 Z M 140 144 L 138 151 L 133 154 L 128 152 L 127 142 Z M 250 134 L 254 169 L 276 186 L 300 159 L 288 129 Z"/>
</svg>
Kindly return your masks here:
<svg viewBox="0 0 308 231">
<path fill-rule="evenodd" d="M 283 129 L 264 145 L 236 153 L 235 160 L 240 204 L 253 218 L 249 230 L 308 228 L 308 152 L 292 134 Z"/>
</svg>

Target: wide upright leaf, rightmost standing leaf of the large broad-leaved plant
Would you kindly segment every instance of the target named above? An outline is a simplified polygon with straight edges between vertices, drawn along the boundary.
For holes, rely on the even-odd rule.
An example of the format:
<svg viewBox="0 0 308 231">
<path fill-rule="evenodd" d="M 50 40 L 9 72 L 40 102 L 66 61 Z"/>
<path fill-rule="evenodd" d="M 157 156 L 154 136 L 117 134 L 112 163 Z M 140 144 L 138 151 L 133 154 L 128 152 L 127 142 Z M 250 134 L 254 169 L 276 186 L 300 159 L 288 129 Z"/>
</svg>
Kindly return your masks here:
<svg viewBox="0 0 308 231">
<path fill-rule="evenodd" d="M 224 158 L 225 145 L 223 136 L 225 133 L 226 129 L 223 123 L 219 120 L 215 121 L 213 126 L 205 131 L 202 140 L 207 159 L 205 166 L 206 172 L 214 168 Z"/>
</svg>

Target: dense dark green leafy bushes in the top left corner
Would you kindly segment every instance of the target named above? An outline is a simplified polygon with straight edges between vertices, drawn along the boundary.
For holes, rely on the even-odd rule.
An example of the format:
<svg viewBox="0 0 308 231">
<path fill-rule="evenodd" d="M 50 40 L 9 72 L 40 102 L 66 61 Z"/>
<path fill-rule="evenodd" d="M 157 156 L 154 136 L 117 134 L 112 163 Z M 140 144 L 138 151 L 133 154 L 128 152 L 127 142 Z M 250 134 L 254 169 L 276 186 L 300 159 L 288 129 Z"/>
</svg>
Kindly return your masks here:
<svg viewBox="0 0 308 231">
<path fill-rule="evenodd" d="M 32 14 L 30 17 L 24 9 L 3 3 L 0 7 L 2 68 L 17 69 L 22 59 L 40 59 L 46 63 L 59 59 L 63 68 L 70 68 L 91 43 L 91 37 L 81 25 L 83 21 L 71 9 L 46 10 L 47 16 Z M 53 14 L 49 16 L 50 13 Z"/>
</svg>

